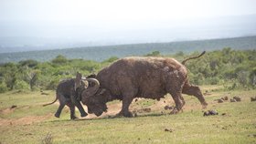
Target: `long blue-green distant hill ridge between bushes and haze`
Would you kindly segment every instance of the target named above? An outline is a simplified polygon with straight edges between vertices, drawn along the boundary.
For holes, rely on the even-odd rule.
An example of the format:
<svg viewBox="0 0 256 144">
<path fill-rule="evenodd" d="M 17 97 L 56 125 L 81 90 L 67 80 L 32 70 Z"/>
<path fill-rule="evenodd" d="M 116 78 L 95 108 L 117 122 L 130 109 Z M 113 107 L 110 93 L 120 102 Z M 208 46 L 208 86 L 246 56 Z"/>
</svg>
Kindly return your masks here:
<svg viewBox="0 0 256 144">
<path fill-rule="evenodd" d="M 182 41 L 170 43 L 147 43 L 119 46 L 88 46 L 67 49 L 29 51 L 0 54 L 0 63 L 18 62 L 26 59 L 48 61 L 62 55 L 68 58 L 82 58 L 95 61 L 103 61 L 109 57 L 143 56 L 153 51 L 161 54 L 175 54 L 178 51 L 190 53 L 193 51 L 212 51 L 223 47 L 232 49 L 256 49 L 256 36 L 244 36 L 235 38 Z"/>
</svg>

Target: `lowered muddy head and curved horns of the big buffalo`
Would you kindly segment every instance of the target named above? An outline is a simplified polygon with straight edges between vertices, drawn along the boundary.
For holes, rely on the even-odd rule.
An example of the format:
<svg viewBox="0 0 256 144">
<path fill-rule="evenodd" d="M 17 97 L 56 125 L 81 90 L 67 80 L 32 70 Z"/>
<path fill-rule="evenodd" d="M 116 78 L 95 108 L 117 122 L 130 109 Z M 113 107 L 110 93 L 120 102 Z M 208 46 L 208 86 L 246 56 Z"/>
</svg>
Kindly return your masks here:
<svg viewBox="0 0 256 144">
<path fill-rule="evenodd" d="M 96 78 L 86 78 L 89 83 L 94 85 L 88 87 L 81 94 L 81 102 L 87 106 L 88 113 L 94 113 L 97 117 L 107 111 L 107 98 L 109 91 L 100 87 L 100 82 Z"/>
</svg>

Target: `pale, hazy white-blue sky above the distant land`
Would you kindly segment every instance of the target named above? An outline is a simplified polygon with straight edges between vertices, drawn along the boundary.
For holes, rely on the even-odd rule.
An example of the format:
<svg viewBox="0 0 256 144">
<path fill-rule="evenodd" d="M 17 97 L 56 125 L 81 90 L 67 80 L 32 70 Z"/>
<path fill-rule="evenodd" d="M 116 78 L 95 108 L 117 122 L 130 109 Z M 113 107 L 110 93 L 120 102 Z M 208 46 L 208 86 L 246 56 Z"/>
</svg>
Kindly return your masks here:
<svg viewBox="0 0 256 144">
<path fill-rule="evenodd" d="M 133 38 L 137 32 L 152 35 L 142 42 L 161 41 L 160 31 L 165 29 L 225 26 L 223 17 L 255 14 L 256 0 L 0 0 L 0 38 L 108 41 L 112 37 L 113 42 Z"/>
</svg>

